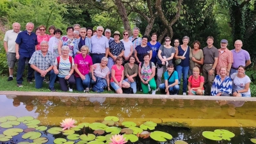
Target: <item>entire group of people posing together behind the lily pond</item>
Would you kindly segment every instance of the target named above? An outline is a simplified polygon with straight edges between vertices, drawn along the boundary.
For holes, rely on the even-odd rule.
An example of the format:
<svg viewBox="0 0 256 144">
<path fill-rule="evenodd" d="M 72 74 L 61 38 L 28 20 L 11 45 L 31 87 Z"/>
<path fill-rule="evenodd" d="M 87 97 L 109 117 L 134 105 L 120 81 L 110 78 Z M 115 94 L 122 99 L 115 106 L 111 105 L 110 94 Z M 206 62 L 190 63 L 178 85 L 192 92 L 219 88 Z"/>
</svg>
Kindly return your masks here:
<svg viewBox="0 0 256 144">
<path fill-rule="evenodd" d="M 20 31 L 20 24 L 13 23 L 13 29 L 4 36 L 10 77 L 18 60 L 17 86 L 22 87 L 22 75 L 28 62 L 28 83 L 42 88 L 45 76 L 49 76 L 49 89 L 54 92 L 54 83 L 59 81 L 62 91 L 73 91 L 74 84 L 79 92 L 103 92 L 105 88 L 124 93 L 141 90 L 156 94 L 157 90 L 177 95 L 180 81 L 182 93 L 186 95 L 217 95 L 250 97 L 250 77 L 244 68 L 250 65 L 250 55 L 241 49 L 243 43 L 236 40 L 232 51 L 227 49 L 228 41 L 221 40 L 220 49 L 214 47 L 214 38 L 207 37 L 207 47 L 201 49 L 200 42 L 189 47 L 189 37 L 164 38 L 164 44 L 157 42 L 157 33 L 139 37 L 140 29 L 115 31 L 98 26 L 81 28 L 79 24 L 66 29 L 50 26 L 49 35 L 44 25 L 36 28 L 28 22 L 26 30 Z M 104 35 L 103 35 L 104 33 Z M 200 75 L 202 74 L 202 76 Z M 217 76 L 215 76 L 217 74 Z M 189 77 L 188 77 L 189 76 Z M 162 80 L 164 79 L 164 82 Z M 156 80 L 155 80 L 156 79 Z M 187 91 L 188 90 L 188 91 Z"/>
</svg>

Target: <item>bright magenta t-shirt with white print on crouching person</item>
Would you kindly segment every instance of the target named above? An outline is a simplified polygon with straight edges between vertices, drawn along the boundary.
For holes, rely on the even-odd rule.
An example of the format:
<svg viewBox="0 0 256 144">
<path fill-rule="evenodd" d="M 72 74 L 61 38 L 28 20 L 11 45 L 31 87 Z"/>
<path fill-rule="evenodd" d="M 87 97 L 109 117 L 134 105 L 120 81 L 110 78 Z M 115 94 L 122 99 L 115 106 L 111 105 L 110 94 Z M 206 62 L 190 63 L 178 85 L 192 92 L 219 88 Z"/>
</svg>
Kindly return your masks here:
<svg viewBox="0 0 256 144">
<path fill-rule="evenodd" d="M 89 55 L 86 55 L 86 57 L 83 58 L 82 54 L 77 54 L 75 56 L 74 63 L 77 64 L 77 68 L 79 72 L 81 72 L 81 74 L 85 76 L 90 72 L 90 66 L 92 65 L 92 57 Z M 79 75 L 76 72 L 75 72 L 75 76 L 79 77 Z"/>
</svg>

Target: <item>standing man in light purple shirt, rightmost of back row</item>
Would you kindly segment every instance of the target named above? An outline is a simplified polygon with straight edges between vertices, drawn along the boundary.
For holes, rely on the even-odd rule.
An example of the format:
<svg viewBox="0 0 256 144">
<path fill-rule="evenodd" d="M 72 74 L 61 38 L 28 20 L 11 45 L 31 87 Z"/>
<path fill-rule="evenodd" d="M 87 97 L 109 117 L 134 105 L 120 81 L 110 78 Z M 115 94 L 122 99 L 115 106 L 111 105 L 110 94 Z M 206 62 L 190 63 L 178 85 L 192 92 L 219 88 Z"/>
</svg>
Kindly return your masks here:
<svg viewBox="0 0 256 144">
<path fill-rule="evenodd" d="M 235 49 L 231 50 L 234 58 L 234 63 L 232 63 L 232 67 L 230 70 L 230 76 L 237 72 L 237 69 L 240 65 L 247 67 L 252 62 L 250 60 L 249 52 L 242 49 L 243 42 L 241 40 L 236 40 L 235 42 Z"/>
</svg>

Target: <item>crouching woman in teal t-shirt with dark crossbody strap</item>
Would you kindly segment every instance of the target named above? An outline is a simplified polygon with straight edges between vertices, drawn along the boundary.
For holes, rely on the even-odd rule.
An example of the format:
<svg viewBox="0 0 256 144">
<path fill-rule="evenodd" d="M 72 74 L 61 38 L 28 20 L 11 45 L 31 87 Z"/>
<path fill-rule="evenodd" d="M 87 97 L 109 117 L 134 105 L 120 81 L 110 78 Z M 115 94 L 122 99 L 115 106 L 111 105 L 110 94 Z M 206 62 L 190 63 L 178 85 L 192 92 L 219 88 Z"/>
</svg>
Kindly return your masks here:
<svg viewBox="0 0 256 144">
<path fill-rule="evenodd" d="M 167 71 L 164 72 L 164 83 L 159 85 L 161 92 L 166 92 L 166 95 L 174 94 L 177 95 L 179 86 L 178 72 L 174 70 L 174 65 L 169 63 L 167 66 Z"/>
</svg>

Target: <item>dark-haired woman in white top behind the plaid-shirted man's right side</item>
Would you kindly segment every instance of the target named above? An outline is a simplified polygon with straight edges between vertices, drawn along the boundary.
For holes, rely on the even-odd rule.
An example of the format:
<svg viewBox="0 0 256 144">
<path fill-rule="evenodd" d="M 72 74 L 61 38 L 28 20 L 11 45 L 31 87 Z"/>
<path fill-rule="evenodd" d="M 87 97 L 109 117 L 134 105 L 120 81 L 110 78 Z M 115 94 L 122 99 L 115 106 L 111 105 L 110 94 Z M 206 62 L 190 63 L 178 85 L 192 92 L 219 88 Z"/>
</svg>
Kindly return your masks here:
<svg viewBox="0 0 256 144">
<path fill-rule="evenodd" d="M 62 31 L 60 29 L 56 29 L 53 34 L 54 36 L 49 40 L 49 51 L 51 51 L 57 58 L 58 56 L 61 56 L 61 49 L 59 49 L 60 47 L 58 47 L 58 44 L 61 42 L 60 38 Z"/>
</svg>

